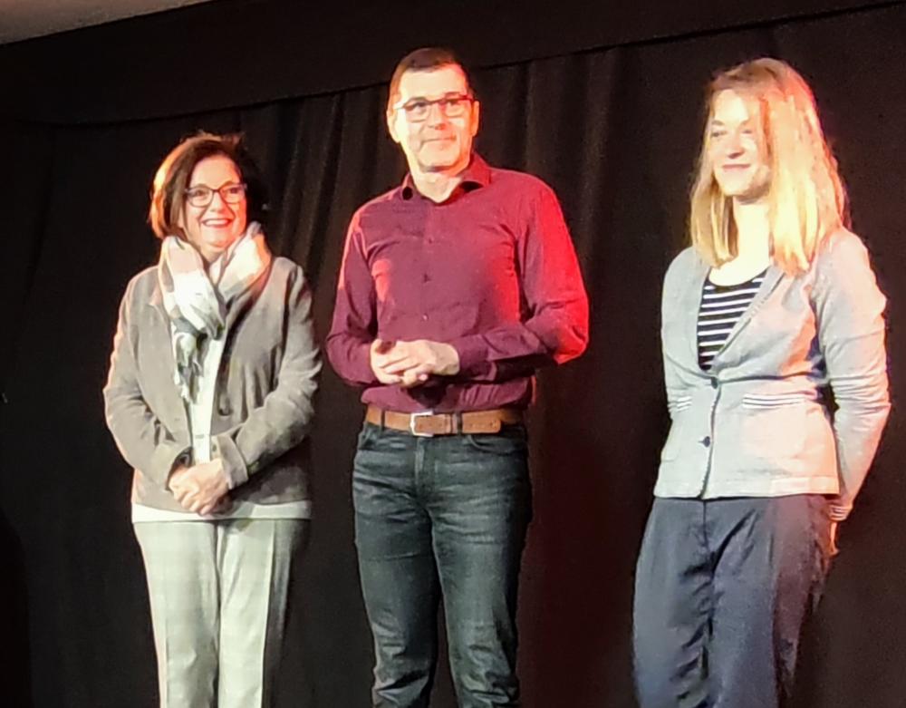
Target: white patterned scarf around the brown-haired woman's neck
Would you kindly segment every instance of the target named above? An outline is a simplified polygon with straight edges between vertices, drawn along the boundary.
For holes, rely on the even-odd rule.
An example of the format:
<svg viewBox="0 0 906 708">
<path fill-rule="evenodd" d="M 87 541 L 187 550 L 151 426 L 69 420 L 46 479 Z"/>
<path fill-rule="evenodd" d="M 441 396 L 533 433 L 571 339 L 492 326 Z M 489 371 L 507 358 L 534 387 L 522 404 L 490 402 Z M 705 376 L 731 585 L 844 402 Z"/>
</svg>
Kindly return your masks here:
<svg viewBox="0 0 906 708">
<path fill-rule="evenodd" d="M 186 401 L 193 401 L 198 393 L 207 339 L 223 334 L 230 305 L 255 284 L 270 262 L 265 235 L 255 221 L 207 270 L 188 241 L 175 236 L 163 239 L 158 281 L 173 333 L 173 381 Z"/>
</svg>

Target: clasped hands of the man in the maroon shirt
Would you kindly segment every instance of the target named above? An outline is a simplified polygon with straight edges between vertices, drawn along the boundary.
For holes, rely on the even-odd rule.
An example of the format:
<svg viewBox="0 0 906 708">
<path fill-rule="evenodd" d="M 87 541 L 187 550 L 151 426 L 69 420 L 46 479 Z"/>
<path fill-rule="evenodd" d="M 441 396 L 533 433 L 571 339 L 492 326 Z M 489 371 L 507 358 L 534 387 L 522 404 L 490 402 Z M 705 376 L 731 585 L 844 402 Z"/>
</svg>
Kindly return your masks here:
<svg viewBox="0 0 906 708">
<path fill-rule="evenodd" d="M 371 371 L 378 381 L 399 384 L 403 388 L 420 386 L 432 375 L 452 376 L 459 373 L 459 354 L 449 344 L 428 339 L 371 343 Z"/>
</svg>

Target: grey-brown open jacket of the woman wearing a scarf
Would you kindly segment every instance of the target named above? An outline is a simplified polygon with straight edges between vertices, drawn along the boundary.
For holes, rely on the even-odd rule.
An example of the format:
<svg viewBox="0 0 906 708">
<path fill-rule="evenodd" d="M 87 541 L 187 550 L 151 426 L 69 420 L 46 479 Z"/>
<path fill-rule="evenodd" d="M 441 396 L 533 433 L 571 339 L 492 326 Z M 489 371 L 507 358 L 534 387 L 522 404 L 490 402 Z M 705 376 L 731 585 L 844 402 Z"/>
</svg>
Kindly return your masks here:
<svg viewBox="0 0 906 708">
<path fill-rule="evenodd" d="M 309 499 L 305 443 L 320 369 L 302 269 L 277 257 L 226 315 L 211 437 L 231 497 L 257 504 Z M 132 501 L 182 511 L 166 488 L 191 448 L 174 370 L 169 318 L 157 267 L 150 267 L 132 278 L 120 305 L 103 391 L 107 425 L 135 468 Z"/>
</svg>

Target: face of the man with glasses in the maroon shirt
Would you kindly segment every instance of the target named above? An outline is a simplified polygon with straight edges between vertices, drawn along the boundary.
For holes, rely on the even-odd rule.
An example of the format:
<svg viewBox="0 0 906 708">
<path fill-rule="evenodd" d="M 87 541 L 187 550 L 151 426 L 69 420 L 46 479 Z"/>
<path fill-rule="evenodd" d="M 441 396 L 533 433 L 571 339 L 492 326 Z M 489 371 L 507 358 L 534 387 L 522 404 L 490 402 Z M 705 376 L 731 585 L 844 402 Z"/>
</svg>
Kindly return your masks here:
<svg viewBox="0 0 906 708">
<path fill-rule="evenodd" d="M 466 75 L 448 64 L 403 73 L 387 126 L 412 172 L 457 175 L 468 165 L 478 113 Z"/>
</svg>

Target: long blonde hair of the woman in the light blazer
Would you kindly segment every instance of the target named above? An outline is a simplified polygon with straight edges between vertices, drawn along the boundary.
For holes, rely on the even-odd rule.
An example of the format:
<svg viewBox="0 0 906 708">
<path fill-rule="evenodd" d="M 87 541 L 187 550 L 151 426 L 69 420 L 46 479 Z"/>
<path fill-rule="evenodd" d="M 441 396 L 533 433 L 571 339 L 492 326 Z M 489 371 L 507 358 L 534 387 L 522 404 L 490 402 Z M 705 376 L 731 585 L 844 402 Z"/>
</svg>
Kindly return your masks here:
<svg viewBox="0 0 906 708">
<path fill-rule="evenodd" d="M 714 267 L 737 256 L 732 199 L 721 192 L 708 160 L 714 100 L 728 90 L 758 103 L 770 167 L 767 200 L 774 261 L 787 273 L 803 272 L 824 238 L 846 224 L 846 193 L 824 141 L 811 89 L 792 66 L 777 59 L 738 64 L 708 86 L 708 121 L 690 199 L 692 245 Z"/>
</svg>

